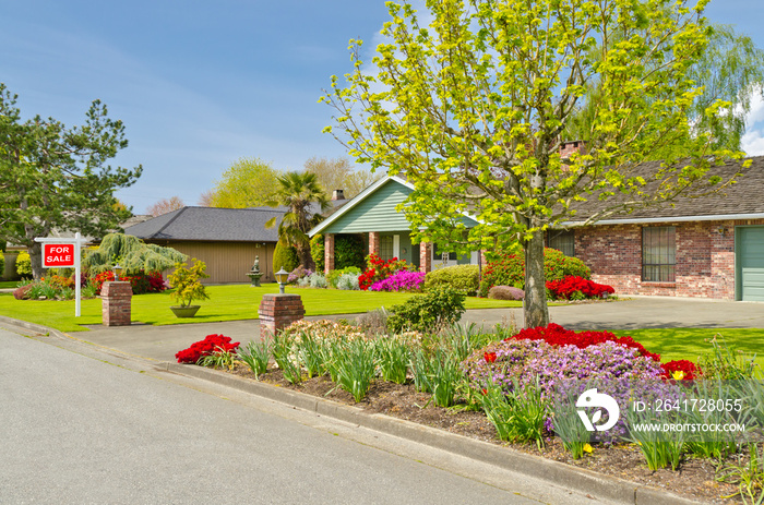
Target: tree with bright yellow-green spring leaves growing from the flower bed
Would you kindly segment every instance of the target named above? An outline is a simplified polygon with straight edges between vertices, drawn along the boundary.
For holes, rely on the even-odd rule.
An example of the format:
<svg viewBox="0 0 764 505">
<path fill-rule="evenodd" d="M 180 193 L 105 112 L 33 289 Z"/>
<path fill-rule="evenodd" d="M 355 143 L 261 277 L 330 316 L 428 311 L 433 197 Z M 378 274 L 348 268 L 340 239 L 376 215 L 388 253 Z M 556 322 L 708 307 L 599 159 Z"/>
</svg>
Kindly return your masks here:
<svg viewBox="0 0 764 505">
<path fill-rule="evenodd" d="M 337 131 L 325 131 L 358 163 L 414 184 L 404 212 L 415 240 L 461 254 L 518 241 L 525 324 L 547 325 L 544 231 L 570 220 L 573 203 L 604 202 L 592 224 L 700 194 L 721 185 L 706 179 L 712 159 L 742 156 L 715 148 L 689 119 L 703 93 L 689 71 L 707 45 L 705 3 L 426 0 L 432 21 L 421 26 L 407 1 L 389 2 L 378 72 L 365 71 L 362 43 L 351 40 L 347 83 L 333 76 L 321 98 L 337 111 Z M 562 133 L 593 83 L 588 153 L 561 158 Z M 680 143 L 690 159 L 669 157 L 644 175 L 642 161 Z M 467 230 L 463 213 L 479 224 Z"/>
</svg>

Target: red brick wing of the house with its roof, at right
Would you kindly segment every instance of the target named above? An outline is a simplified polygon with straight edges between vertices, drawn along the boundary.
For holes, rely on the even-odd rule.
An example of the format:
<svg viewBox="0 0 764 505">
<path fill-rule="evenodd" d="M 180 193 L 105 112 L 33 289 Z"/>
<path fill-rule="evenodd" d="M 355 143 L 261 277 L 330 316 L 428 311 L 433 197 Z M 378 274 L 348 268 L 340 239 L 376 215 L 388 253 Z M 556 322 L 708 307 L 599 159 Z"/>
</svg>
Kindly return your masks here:
<svg viewBox="0 0 764 505">
<path fill-rule="evenodd" d="M 581 258 L 594 280 L 619 294 L 764 301 L 764 157 L 749 159 L 749 168 L 712 168 L 737 181 L 718 193 L 580 227 L 601 205 L 589 199 L 566 229 L 549 232 L 548 243 Z"/>
</svg>

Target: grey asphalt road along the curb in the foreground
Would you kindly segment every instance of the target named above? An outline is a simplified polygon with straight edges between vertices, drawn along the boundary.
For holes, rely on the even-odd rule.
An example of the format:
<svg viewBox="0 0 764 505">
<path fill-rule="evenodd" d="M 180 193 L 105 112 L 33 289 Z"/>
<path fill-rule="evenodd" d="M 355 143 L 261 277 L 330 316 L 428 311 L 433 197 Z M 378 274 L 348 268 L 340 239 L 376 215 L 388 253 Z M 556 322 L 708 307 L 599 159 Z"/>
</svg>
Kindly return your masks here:
<svg viewBox="0 0 764 505">
<path fill-rule="evenodd" d="M 147 361 L 0 329 L 0 503 L 595 503 Z"/>
</svg>

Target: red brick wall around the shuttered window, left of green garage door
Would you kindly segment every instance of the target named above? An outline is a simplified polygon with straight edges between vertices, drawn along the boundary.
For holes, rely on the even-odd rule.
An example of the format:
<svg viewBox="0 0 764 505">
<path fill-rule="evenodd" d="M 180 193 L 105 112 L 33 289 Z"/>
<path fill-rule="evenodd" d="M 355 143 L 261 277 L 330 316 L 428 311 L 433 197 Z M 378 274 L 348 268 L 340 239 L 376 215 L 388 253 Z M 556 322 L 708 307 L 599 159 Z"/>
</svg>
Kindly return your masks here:
<svg viewBox="0 0 764 505">
<path fill-rule="evenodd" d="M 575 255 L 592 268 L 592 279 L 617 294 L 659 294 L 735 299 L 735 227 L 764 219 L 666 223 L 675 226 L 675 282 L 642 281 L 642 226 L 607 225 L 575 230 Z M 724 230 L 724 232 L 721 231 Z"/>
</svg>

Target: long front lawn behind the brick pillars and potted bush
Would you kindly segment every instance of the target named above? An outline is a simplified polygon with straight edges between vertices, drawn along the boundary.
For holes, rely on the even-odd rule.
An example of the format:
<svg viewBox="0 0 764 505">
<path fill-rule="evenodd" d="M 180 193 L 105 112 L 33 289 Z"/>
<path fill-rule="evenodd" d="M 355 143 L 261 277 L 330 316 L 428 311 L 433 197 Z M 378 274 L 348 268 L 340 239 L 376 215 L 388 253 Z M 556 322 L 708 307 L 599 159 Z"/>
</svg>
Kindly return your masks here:
<svg viewBox="0 0 764 505">
<path fill-rule="evenodd" d="M 258 306 L 265 293 L 278 292 L 275 284 L 252 288 L 249 285 L 210 286 L 210 300 L 199 304 L 195 317 L 176 318 L 169 306 L 169 294 L 140 294 L 132 299 L 132 320 L 153 325 L 215 323 L 220 321 L 255 320 Z M 308 289 L 288 287 L 287 292 L 302 297 L 306 315 L 357 314 L 381 306 L 403 303 L 411 293 L 342 291 L 338 289 Z M 521 306 L 520 302 L 468 298 L 467 309 Z M 15 300 L 12 294 L 0 294 L 0 314 L 37 323 L 61 332 L 82 332 L 82 325 L 102 323 L 100 299 L 82 300 L 82 316 L 74 317 L 74 301 Z"/>
</svg>

